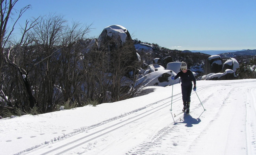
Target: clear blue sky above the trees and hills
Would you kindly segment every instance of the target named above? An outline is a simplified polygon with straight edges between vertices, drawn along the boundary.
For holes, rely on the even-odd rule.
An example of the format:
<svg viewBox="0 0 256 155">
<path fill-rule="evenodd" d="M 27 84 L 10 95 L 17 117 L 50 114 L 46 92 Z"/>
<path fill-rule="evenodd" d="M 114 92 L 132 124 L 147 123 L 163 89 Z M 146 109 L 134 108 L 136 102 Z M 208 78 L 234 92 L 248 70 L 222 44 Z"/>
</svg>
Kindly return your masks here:
<svg viewBox="0 0 256 155">
<path fill-rule="evenodd" d="M 110 25 L 133 39 L 177 50 L 256 49 L 256 0 L 19 0 L 31 4 L 19 22 L 55 13 L 92 24 L 87 37 Z"/>
</svg>

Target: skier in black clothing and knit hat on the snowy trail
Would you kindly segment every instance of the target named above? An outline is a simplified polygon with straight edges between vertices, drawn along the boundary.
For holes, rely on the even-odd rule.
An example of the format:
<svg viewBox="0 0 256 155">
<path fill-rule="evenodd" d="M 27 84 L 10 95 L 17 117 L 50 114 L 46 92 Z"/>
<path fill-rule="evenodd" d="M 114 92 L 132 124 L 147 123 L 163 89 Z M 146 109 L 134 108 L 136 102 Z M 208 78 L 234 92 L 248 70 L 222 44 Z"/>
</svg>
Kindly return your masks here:
<svg viewBox="0 0 256 155">
<path fill-rule="evenodd" d="M 192 81 L 194 83 L 193 90 L 196 91 L 196 79 L 193 75 L 193 72 L 187 69 L 187 64 L 182 61 L 180 65 L 180 72 L 176 76 L 172 76 L 171 79 L 175 80 L 180 77 L 181 79 L 181 90 L 182 90 L 182 100 L 183 100 L 183 109 L 182 111 L 186 111 L 189 114 L 189 107 L 190 107 L 190 95 L 192 91 Z"/>
</svg>

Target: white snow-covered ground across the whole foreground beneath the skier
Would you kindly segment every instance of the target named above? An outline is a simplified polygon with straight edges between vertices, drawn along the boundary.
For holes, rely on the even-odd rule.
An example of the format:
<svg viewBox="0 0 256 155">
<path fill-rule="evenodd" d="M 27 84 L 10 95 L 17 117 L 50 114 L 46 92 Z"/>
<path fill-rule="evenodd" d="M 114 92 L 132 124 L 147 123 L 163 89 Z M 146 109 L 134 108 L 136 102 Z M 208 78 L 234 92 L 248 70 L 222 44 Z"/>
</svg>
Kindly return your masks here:
<svg viewBox="0 0 256 155">
<path fill-rule="evenodd" d="M 151 88 L 96 107 L 1 119 L 0 155 L 256 154 L 256 79 L 197 81 L 186 117 L 178 115 L 180 84 Z"/>
</svg>

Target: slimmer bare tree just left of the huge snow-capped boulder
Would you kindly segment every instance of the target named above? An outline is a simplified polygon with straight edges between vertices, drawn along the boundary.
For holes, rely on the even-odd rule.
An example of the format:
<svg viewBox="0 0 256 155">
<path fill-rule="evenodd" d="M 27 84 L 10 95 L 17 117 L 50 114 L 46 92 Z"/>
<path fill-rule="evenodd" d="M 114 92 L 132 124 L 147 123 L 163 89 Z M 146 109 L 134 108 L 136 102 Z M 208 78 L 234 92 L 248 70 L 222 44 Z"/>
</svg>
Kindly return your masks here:
<svg viewBox="0 0 256 155">
<path fill-rule="evenodd" d="M 74 22 L 63 35 L 63 48 L 61 49 L 61 63 L 59 85 L 61 86 L 65 101 L 80 101 L 84 81 L 82 59 L 85 50 L 85 35 L 90 31 L 91 25 L 81 26 Z"/>
</svg>

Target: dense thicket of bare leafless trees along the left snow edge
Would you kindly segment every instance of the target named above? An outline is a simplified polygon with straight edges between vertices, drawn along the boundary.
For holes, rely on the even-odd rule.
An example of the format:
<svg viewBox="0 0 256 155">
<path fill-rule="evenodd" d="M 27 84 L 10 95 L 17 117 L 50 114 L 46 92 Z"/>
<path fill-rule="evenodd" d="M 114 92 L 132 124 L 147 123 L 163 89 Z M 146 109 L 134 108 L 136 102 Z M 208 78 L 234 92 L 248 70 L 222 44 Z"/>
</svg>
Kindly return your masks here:
<svg viewBox="0 0 256 155">
<path fill-rule="evenodd" d="M 130 44 L 111 54 L 96 47 L 88 52 L 91 25 L 69 26 L 54 14 L 27 20 L 22 37 L 14 42 L 7 22 L 17 1 L 1 1 L 0 116 L 47 113 L 61 105 L 67 109 L 133 96 L 135 89 L 130 88 L 136 76 L 129 73 L 136 72 L 139 62 L 127 65 Z M 22 8 L 19 17 L 28 8 Z"/>
</svg>

